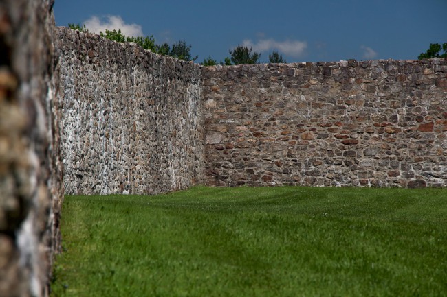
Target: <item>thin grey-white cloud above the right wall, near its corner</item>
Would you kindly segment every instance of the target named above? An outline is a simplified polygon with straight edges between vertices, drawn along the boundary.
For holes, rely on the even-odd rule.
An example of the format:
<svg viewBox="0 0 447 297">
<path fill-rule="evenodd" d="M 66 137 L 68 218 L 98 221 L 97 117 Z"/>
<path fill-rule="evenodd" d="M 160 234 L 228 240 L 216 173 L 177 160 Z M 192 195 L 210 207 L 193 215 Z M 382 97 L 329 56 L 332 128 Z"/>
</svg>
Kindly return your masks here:
<svg viewBox="0 0 447 297">
<path fill-rule="evenodd" d="M 247 47 L 252 47 L 253 51 L 279 51 L 280 54 L 285 54 L 287 56 L 292 56 L 295 58 L 303 56 L 305 49 L 307 49 L 307 42 L 299 40 L 285 40 L 276 41 L 272 38 L 261 39 L 257 43 L 253 43 L 252 40 L 243 40 L 243 45 Z"/>
</svg>

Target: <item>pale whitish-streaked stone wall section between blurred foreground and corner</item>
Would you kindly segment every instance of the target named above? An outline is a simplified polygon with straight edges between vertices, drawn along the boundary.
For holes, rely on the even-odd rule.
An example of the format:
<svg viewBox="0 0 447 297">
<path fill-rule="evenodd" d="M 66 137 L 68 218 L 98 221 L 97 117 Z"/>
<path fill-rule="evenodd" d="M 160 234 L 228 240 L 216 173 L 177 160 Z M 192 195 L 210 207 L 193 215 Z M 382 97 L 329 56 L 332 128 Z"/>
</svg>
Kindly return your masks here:
<svg viewBox="0 0 447 297">
<path fill-rule="evenodd" d="M 153 194 L 200 182 L 200 66 L 56 29 L 65 191 Z"/>
</svg>

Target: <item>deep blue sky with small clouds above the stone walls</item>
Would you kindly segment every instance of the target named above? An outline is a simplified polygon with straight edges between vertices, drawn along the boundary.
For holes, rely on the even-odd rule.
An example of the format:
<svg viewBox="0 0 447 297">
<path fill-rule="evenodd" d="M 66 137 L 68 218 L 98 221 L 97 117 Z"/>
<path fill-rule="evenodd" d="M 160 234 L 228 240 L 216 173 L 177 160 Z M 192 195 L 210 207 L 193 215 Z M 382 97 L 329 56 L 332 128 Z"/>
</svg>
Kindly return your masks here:
<svg viewBox="0 0 447 297">
<path fill-rule="evenodd" d="M 156 43 L 185 40 L 196 62 L 237 45 L 287 62 L 417 59 L 447 42 L 447 0 L 56 0 L 56 25 L 120 27 Z"/>
</svg>

